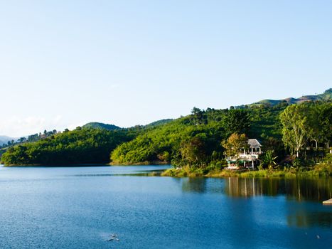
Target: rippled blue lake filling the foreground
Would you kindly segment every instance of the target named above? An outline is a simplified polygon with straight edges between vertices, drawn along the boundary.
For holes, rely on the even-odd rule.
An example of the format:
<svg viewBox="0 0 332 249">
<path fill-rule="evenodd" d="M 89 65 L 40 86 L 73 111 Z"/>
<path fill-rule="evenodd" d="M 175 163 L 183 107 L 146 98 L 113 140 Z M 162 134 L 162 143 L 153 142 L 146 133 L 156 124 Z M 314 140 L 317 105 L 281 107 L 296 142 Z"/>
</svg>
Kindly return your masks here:
<svg viewBox="0 0 332 249">
<path fill-rule="evenodd" d="M 0 166 L 0 248 L 332 248 L 332 179 L 166 168 Z"/>
</svg>

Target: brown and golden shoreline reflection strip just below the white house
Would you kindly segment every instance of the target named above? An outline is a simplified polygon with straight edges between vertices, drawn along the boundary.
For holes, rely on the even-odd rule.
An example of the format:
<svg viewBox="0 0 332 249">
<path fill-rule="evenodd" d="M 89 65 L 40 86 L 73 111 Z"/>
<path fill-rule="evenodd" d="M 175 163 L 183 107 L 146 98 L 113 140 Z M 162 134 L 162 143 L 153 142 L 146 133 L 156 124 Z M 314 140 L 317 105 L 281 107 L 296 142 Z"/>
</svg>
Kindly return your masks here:
<svg viewBox="0 0 332 249">
<path fill-rule="evenodd" d="M 286 196 L 288 200 L 321 202 L 332 198 L 329 179 L 174 178 L 183 192 L 224 193 L 232 197 Z"/>
</svg>

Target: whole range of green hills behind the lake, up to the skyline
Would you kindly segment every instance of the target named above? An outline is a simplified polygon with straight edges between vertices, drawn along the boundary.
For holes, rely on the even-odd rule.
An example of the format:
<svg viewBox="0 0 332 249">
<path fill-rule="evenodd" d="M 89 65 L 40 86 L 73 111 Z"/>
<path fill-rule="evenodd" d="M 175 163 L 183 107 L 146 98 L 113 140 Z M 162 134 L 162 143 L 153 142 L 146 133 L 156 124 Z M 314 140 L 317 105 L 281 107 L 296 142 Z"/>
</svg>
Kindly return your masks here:
<svg viewBox="0 0 332 249">
<path fill-rule="evenodd" d="M 331 93 L 330 89 L 321 95 L 263 100 L 259 105 L 223 110 L 194 107 L 186 117 L 126 129 L 92 122 L 73 131 L 53 132 L 37 142 L 16 144 L 1 160 L 5 164 L 87 164 L 107 163 L 111 159 L 112 164 L 171 163 L 204 167 L 225 158 L 221 142 L 233 133 L 247 134 L 265 146 L 269 144 L 282 158 L 281 113 L 292 103 L 306 105 L 306 115 L 319 112 L 323 115 L 320 118 L 331 124 Z M 314 128 L 321 129 L 320 125 Z"/>
</svg>

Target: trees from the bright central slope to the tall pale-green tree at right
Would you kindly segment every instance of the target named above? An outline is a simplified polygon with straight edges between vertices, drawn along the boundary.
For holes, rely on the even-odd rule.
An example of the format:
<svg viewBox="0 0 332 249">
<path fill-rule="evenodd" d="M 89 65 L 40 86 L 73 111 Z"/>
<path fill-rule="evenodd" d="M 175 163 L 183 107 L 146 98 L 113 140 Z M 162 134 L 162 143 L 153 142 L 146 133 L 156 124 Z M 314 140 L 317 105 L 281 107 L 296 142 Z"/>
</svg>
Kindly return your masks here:
<svg viewBox="0 0 332 249">
<path fill-rule="evenodd" d="M 269 157 L 282 160 L 286 154 L 305 151 L 312 141 L 328 147 L 332 139 L 331 108 L 331 102 L 299 105 L 280 102 L 275 106 L 231 107 L 230 110 L 194 107 L 191 115 L 121 144 L 112 152 L 111 161 L 113 164 L 164 161 L 176 166 L 205 167 L 225 158 L 221 143 L 231 134 L 245 134 L 247 138 L 261 140 Z M 287 121 L 286 114 L 289 114 Z M 289 127 L 285 127 L 286 122 Z M 301 134 L 292 134 L 292 130 L 300 130 Z M 301 144 L 296 144 L 299 136 Z"/>
</svg>

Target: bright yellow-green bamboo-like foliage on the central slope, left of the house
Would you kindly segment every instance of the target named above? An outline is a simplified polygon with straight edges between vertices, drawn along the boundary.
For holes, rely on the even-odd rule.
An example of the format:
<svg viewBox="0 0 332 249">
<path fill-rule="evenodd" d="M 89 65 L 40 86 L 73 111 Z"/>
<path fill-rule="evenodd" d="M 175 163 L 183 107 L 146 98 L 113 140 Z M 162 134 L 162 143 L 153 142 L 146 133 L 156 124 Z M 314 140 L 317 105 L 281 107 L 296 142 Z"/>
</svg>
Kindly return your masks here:
<svg viewBox="0 0 332 249">
<path fill-rule="evenodd" d="M 134 140 L 117 147 L 112 152 L 113 163 L 134 164 L 144 161 L 179 160 L 181 148 L 186 147 L 186 144 L 195 143 L 191 141 L 194 138 L 196 142 L 199 140 L 204 144 L 204 147 L 200 147 L 204 152 L 199 157 L 200 161 L 203 160 L 208 155 L 209 149 L 218 147 L 223 129 L 216 124 L 196 125 L 192 122 L 190 117 L 183 117 L 144 132 Z"/>
</svg>

